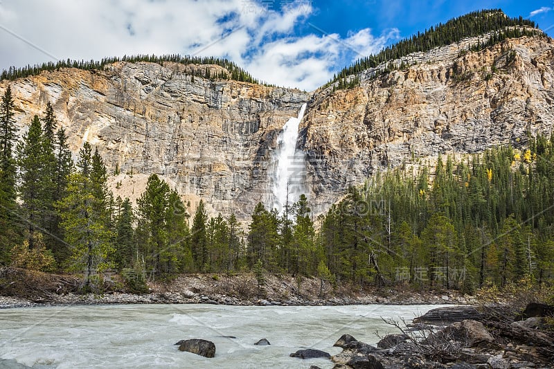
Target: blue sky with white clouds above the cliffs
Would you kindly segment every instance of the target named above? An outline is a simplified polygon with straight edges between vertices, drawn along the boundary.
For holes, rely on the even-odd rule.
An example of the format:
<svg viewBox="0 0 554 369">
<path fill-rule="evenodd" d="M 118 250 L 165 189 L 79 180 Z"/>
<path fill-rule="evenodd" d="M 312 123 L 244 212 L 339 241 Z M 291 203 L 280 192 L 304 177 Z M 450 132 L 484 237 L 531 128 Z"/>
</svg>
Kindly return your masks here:
<svg viewBox="0 0 554 369">
<path fill-rule="evenodd" d="M 483 8 L 554 35 L 553 0 L 0 0 L 0 70 L 179 53 L 226 57 L 258 80 L 312 91 L 359 57 Z"/>
</svg>

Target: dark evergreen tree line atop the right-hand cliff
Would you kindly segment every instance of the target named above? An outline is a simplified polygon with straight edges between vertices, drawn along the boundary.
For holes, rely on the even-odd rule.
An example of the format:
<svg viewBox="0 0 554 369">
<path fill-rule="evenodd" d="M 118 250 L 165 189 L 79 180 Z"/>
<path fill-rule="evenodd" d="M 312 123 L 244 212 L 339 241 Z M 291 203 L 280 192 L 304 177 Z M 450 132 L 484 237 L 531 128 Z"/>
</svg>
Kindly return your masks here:
<svg viewBox="0 0 554 369">
<path fill-rule="evenodd" d="M 473 51 L 479 51 L 482 48 L 492 46 L 508 38 L 518 38 L 523 36 L 541 36 L 544 33 L 537 30 L 537 24 L 534 21 L 524 19 L 523 17 L 508 17 L 501 9 L 479 10 L 470 12 L 461 17 L 450 19 L 445 24 L 431 26 L 429 30 L 417 35 L 411 35 L 400 42 L 383 48 L 375 55 L 368 55 L 354 62 L 352 65 L 333 75 L 332 80 L 325 86 L 334 84 L 334 89 L 350 89 L 359 86 L 359 80 L 352 80 L 351 75 L 375 68 L 379 64 L 387 63 L 385 72 L 394 69 L 404 69 L 404 62 L 400 66 L 394 65 L 393 60 L 401 59 L 411 53 L 427 52 L 433 48 L 447 46 L 460 42 L 467 37 L 475 37 L 492 33 L 487 42 L 482 42 L 474 47 Z M 528 29 L 532 28 L 532 29 Z M 379 75 L 379 73 L 376 73 Z M 337 83 L 338 82 L 338 83 Z"/>
</svg>

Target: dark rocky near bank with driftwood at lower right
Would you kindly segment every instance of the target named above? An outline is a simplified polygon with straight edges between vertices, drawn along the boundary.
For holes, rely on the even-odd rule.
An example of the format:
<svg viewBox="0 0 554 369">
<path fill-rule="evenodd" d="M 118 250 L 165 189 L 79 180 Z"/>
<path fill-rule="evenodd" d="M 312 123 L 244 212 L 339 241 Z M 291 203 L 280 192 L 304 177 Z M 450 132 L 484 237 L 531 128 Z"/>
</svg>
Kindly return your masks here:
<svg viewBox="0 0 554 369">
<path fill-rule="evenodd" d="M 334 369 L 553 368 L 554 333 L 540 316 L 548 309 L 554 307 L 529 304 L 524 314 L 535 312 L 533 315 L 539 316 L 519 316 L 516 321 L 497 314 L 500 310 L 484 310 L 476 315 L 474 308 L 433 309 L 414 319 L 420 327 L 417 330 L 391 321 L 403 334 L 385 336 L 377 347 L 344 334 L 334 344 L 343 351 L 331 359 L 336 363 Z M 464 314 L 478 320 L 460 320 Z M 440 324 L 447 325 L 443 329 L 429 325 L 438 323 L 438 316 L 442 317 Z"/>
</svg>

